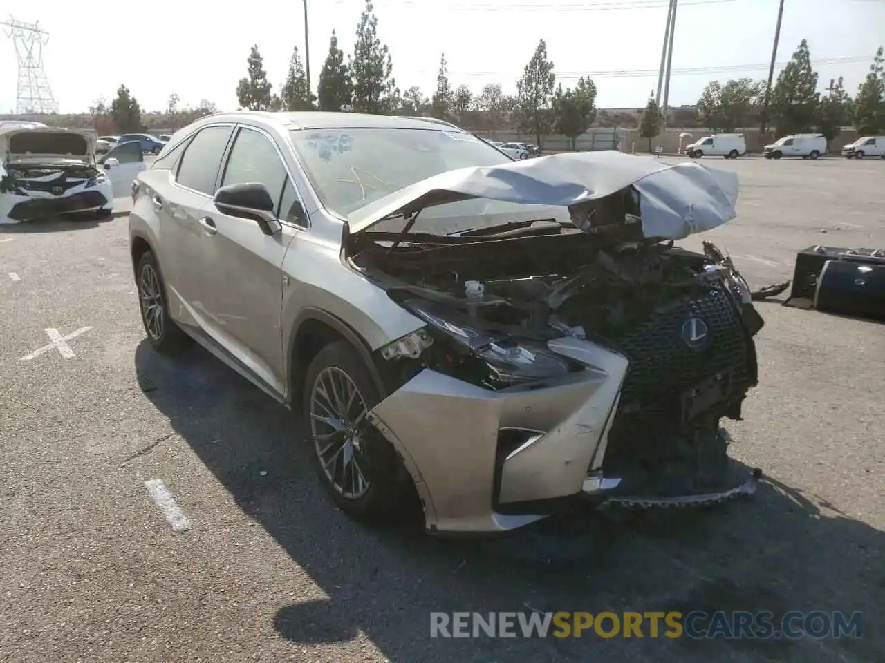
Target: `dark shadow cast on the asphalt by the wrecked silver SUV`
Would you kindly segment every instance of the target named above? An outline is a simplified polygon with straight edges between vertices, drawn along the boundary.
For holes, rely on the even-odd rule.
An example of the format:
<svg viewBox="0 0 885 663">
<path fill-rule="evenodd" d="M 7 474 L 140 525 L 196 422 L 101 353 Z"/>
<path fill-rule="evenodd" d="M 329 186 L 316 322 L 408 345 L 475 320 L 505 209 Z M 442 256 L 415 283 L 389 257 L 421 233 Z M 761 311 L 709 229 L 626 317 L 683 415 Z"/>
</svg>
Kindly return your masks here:
<svg viewBox="0 0 885 663">
<path fill-rule="evenodd" d="M 242 511 L 329 597 L 279 606 L 273 627 L 293 643 L 361 631 L 389 660 L 408 663 L 810 663 L 881 660 L 885 651 L 885 534 L 788 485 L 768 479 L 755 499 L 707 512 L 594 515 L 493 541 L 372 530 L 327 499 L 296 417 L 201 348 L 173 360 L 145 341 L 135 368 L 147 398 Z M 532 610 L 862 611 L 865 631 L 822 641 L 668 640 L 647 630 L 643 639 L 429 636 L 433 611 Z"/>
</svg>

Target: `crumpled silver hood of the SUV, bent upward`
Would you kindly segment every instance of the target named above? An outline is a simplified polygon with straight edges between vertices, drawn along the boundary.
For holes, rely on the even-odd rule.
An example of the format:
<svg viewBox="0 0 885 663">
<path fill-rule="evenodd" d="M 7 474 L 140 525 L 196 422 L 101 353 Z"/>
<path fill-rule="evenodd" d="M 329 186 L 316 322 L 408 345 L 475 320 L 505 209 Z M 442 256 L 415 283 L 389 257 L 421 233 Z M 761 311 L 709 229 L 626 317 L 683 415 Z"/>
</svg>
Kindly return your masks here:
<svg viewBox="0 0 885 663">
<path fill-rule="evenodd" d="M 442 172 L 351 212 L 347 221 L 350 233 L 363 232 L 385 217 L 471 198 L 565 207 L 583 217 L 594 201 L 630 187 L 639 194 L 648 239 L 680 240 L 736 216 L 735 173 L 611 150 Z"/>
</svg>

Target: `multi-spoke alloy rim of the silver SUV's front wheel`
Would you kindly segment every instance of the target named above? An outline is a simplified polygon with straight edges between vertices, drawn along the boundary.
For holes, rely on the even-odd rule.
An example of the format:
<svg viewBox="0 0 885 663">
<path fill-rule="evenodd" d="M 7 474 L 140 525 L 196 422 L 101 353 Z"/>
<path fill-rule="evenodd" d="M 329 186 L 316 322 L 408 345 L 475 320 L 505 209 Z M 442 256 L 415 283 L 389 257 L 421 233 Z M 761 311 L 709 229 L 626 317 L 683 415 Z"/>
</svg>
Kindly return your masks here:
<svg viewBox="0 0 885 663">
<path fill-rule="evenodd" d="M 359 499 L 371 487 L 366 476 L 368 408 L 350 376 L 335 366 L 319 372 L 311 390 L 314 451 L 330 484 L 346 499 Z"/>
</svg>

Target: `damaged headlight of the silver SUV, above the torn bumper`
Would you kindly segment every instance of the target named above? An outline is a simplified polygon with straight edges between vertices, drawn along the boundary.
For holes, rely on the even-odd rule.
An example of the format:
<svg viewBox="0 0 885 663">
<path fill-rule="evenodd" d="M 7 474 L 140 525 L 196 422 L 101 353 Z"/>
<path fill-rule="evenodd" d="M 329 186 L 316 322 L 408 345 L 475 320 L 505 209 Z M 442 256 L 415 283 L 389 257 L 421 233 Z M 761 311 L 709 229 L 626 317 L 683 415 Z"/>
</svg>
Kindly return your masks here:
<svg viewBox="0 0 885 663">
<path fill-rule="evenodd" d="M 427 354 L 428 368 L 473 385 L 499 390 L 582 368 L 541 340 L 485 331 L 481 323 L 427 301 L 406 301 L 404 306 L 427 322 L 427 334 L 439 341 Z"/>
</svg>

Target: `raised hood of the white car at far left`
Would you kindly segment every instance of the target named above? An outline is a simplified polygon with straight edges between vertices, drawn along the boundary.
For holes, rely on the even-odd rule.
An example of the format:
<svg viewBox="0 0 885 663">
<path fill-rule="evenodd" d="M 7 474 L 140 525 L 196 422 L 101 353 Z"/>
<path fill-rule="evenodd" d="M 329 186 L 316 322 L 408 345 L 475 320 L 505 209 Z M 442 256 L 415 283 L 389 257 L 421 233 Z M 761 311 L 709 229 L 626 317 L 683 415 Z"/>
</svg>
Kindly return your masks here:
<svg viewBox="0 0 885 663">
<path fill-rule="evenodd" d="M 95 144 L 87 133 L 53 126 L 0 126 L 5 162 L 66 159 L 92 163 Z"/>
</svg>

